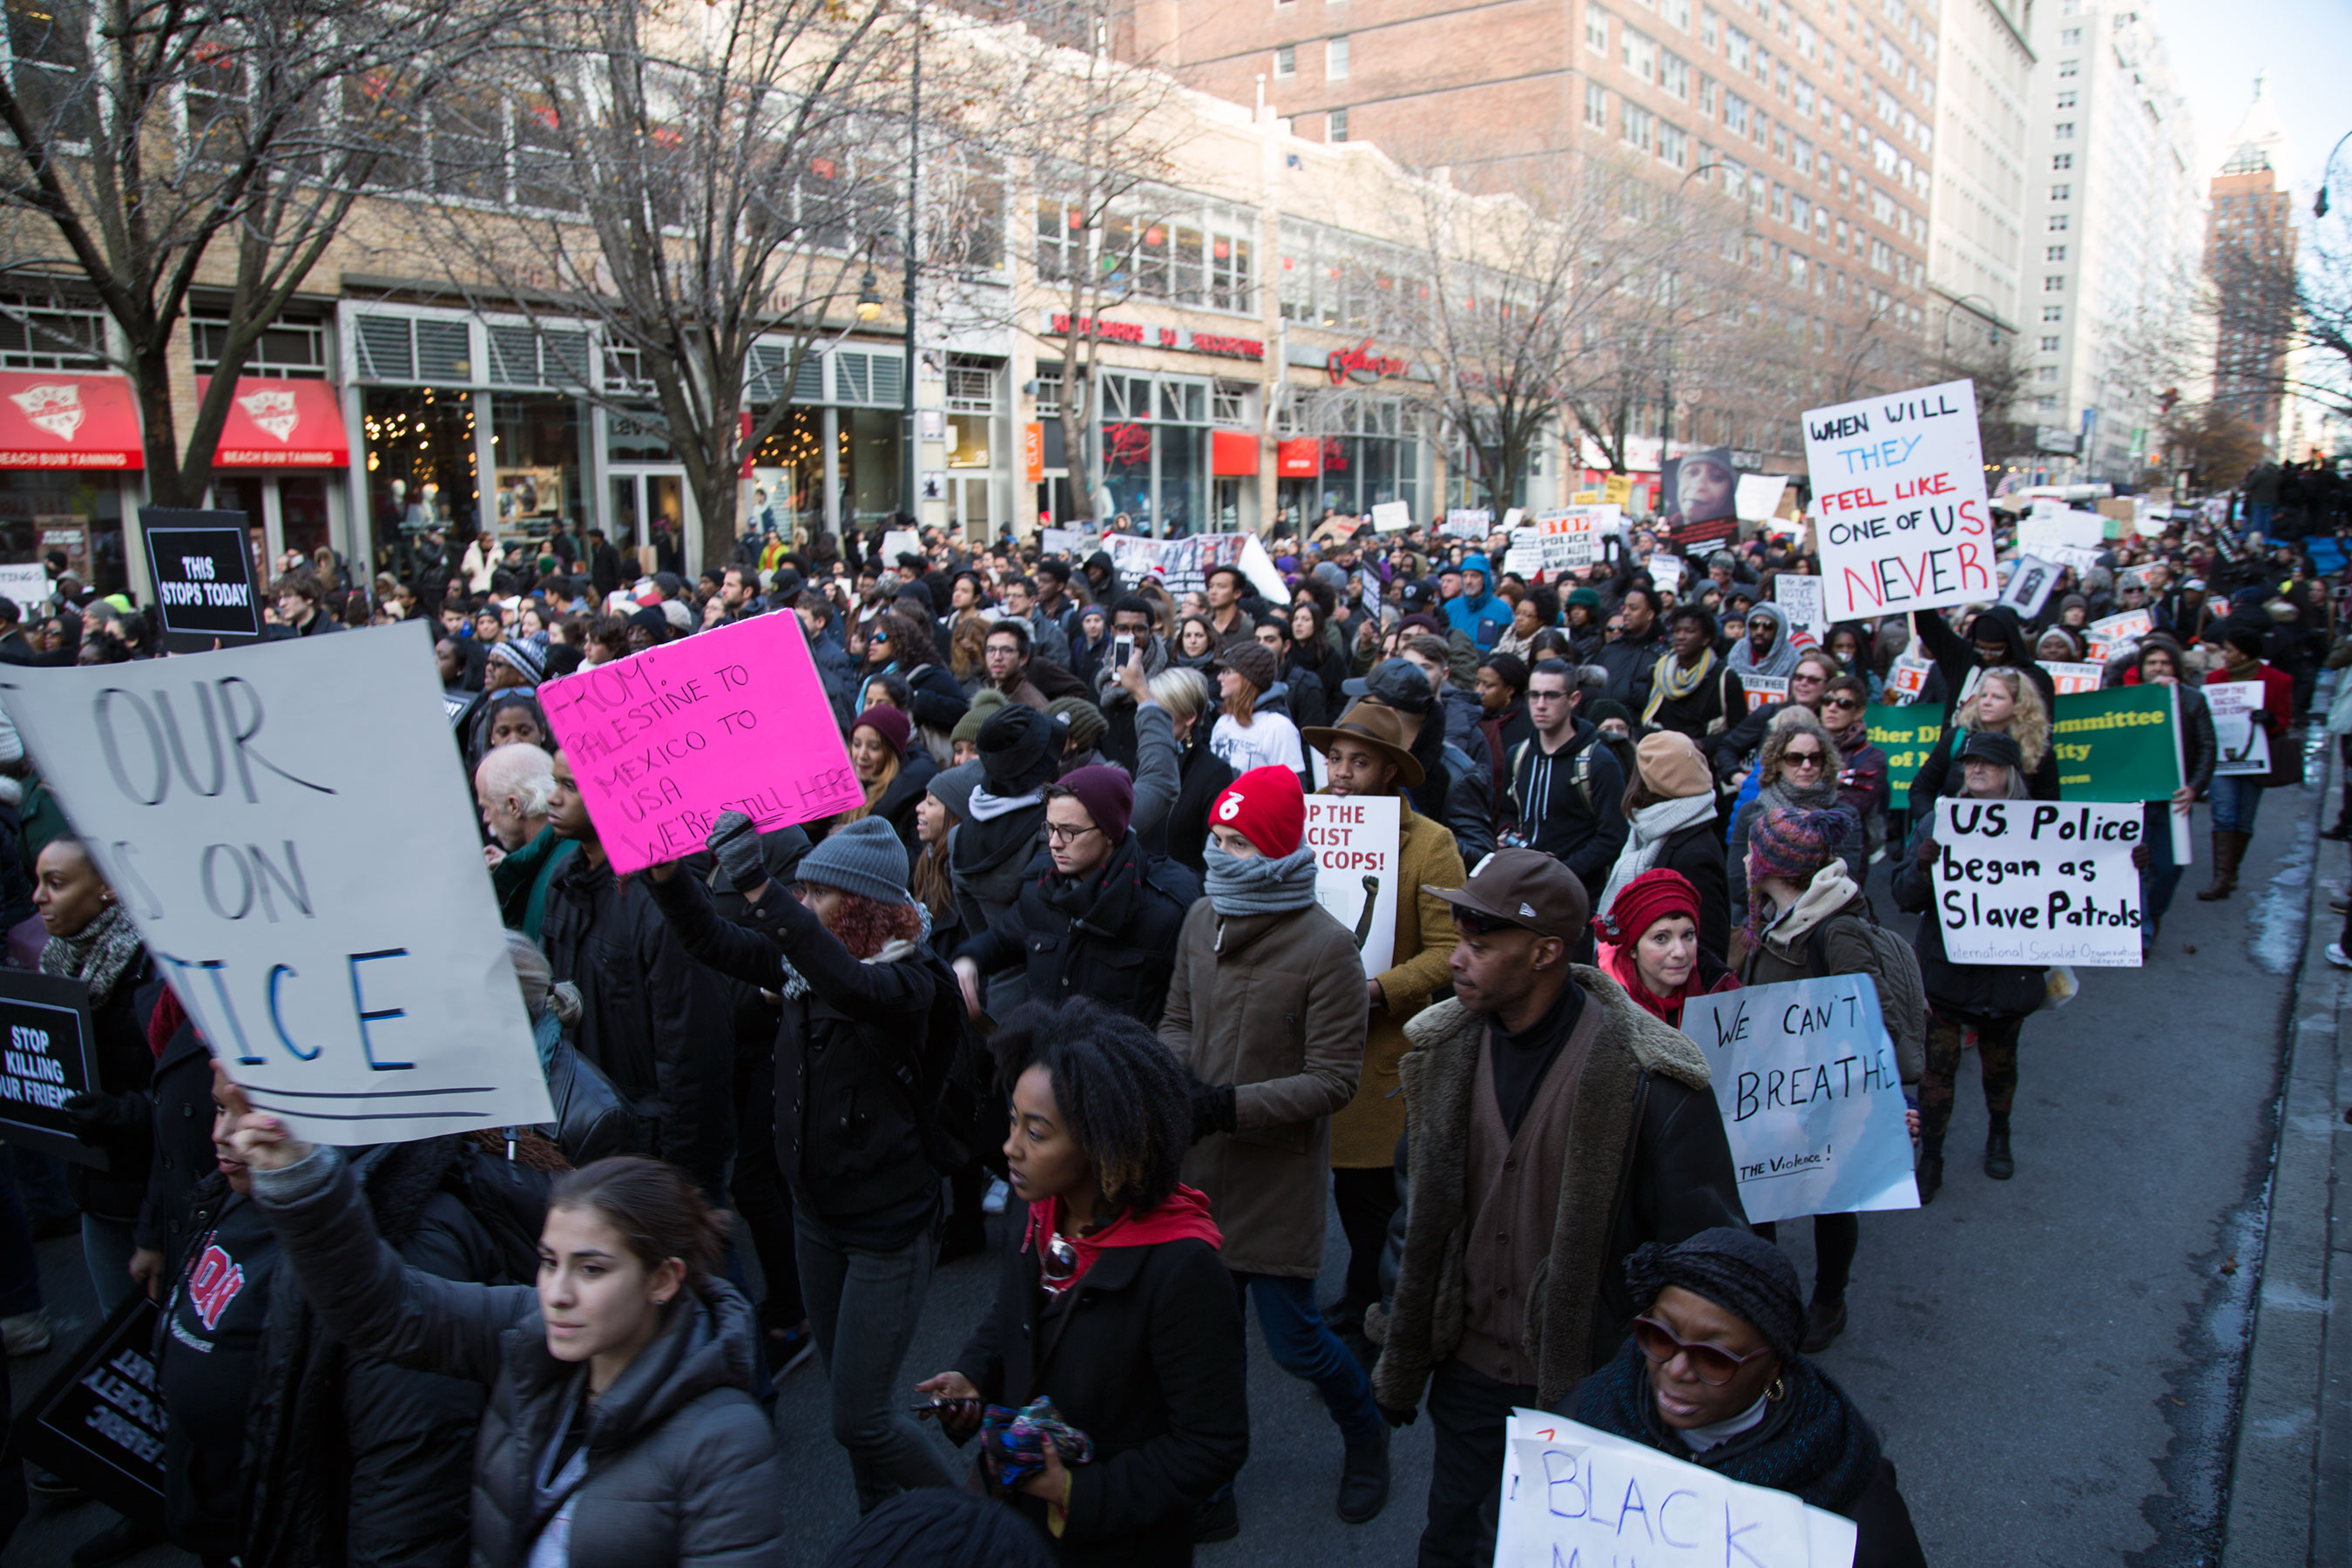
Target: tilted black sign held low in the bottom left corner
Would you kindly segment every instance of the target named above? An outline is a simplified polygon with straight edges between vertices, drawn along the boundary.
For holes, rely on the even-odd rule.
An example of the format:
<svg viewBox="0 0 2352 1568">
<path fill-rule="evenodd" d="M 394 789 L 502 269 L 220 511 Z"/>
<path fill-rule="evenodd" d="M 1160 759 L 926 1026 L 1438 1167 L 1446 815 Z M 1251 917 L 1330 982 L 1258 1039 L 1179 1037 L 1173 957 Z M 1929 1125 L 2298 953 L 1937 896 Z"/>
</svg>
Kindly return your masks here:
<svg viewBox="0 0 2352 1568">
<path fill-rule="evenodd" d="M 132 1293 L 16 1418 L 16 1453 L 125 1519 L 162 1526 L 155 1302 Z"/>
</svg>

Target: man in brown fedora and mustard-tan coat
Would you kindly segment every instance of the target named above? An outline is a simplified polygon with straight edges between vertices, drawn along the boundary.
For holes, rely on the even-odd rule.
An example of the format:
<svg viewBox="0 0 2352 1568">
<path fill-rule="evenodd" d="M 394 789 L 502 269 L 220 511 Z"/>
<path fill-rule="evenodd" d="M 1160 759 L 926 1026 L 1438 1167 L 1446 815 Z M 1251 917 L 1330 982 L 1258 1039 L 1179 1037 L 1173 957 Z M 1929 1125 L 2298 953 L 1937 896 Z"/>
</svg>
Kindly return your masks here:
<svg viewBox="0 0 2352 1568">
<path fill-rule="evenodd" d="M 1317 795 L 1397 797 L 1397 940 L 1388 969 L 1364 980 L 1371 1020 L 1364 1034 L 1364 1074 L 1355 1100 L 1331 1117 L 1331 1197 L 1348 1237 L 1348 1293 L 1324 1307 L 1324 1321 L 1362 1345 L 1364 1307 L 1381 1300 L 1381 1248 L 1397 1213 L 1397 1140 L 1404 1135 L 1404 1100 L 1397 1095 L 1397 1060 L 1404 1056 L 1404 1020 L 1428 1006 L 1446 983 L 1454 954 L 1454 914 L 1428 889 L 1463 884 L 1463 858 L 1454 835 L 1432 816 L 1414 811 L 1406 790 L 1423 778 L 1411 752 L 1418 719 L 1364 698 L 1331 726 L 1301 731 L 1308 750 L 1322 752 L 1331 776 Z M 1418 896 L 1414 889 L 1423 889 Z"/>
</svg>

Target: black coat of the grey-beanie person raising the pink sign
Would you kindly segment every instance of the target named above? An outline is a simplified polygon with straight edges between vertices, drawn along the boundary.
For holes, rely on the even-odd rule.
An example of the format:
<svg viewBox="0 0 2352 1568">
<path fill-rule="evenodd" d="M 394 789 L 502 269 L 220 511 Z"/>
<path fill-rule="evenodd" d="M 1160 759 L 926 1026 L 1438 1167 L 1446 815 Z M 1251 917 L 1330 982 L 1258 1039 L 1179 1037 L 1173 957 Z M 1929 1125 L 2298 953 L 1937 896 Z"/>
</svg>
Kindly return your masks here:
<svg viewBox="0 0 2352 1568">
<path fill-rule="evenodd" d="M 649 886 L 677 940 L 710 969 L 776 990 L 790 961 L 807 980 L 776 1023 L 776 1168 L 793 1197 L 835 1222 L 882 1213 L 929 1222 L 922 1199 L 936 1197 L 938 1175 L 922 1143 L 922 1067 L 931 1004 L 941 987 L 955 992 L 955 976 L 922 945 L 861 964 L 776 884 L 741 922 L 722 919 L 696 877 Z"/>
</svg>

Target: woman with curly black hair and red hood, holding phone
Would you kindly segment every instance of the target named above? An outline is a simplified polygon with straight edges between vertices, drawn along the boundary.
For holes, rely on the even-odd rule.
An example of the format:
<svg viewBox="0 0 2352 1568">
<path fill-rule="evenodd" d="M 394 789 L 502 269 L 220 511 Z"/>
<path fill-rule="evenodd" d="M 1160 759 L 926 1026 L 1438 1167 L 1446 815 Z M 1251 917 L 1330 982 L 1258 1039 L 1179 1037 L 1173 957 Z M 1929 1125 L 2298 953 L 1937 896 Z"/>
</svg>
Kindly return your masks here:
<svg viewBox="0 0 2352 1568">
<path fill-rule="evenodd" d="M 1181 1185 L 1190 1074 L 1134 1018 L 1080 997 L 1028 1004 L 990 1041 L 1011 1086 L 1004 1161 L 1028 1204 L 997 1305 L 917 1385 L 957 1441 L 983 1406 L 1054 1413 L 1091 1443 L 990 1490 L 1037 1521 L 1063 1563 L 1190 1563 L 1192 1516 L 1249 1458 L 1247 1342 L 1209 1201 Z M 990 1422 L 1000 1427 L 1002 1422 Z"/>
</svg>

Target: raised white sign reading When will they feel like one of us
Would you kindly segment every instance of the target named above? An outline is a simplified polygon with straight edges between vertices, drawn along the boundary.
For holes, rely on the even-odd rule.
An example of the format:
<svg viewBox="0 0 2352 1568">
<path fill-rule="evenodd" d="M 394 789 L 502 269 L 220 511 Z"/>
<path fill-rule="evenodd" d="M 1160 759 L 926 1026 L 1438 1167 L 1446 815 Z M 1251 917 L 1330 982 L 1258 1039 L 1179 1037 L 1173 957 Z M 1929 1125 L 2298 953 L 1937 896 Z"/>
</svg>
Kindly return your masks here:
<svg viewBox="0 0 2352 1568">
<path fill-rule="evenodd" d="M 1976 383 L 1804 416 L 1830 621 L 1994 597 Z"/>
</svg>

